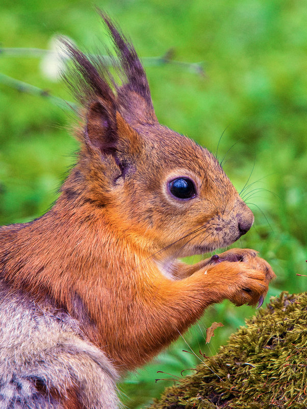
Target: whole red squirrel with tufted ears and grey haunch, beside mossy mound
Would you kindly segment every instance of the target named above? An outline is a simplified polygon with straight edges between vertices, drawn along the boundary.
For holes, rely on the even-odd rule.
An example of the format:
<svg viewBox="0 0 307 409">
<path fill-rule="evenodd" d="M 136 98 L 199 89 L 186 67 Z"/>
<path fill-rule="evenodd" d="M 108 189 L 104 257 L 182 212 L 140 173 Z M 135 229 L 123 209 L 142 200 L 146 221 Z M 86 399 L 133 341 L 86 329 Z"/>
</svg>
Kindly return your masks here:
<svg viewBox="0 0 307 409">
<path fill-rule="evenodd" d="M 63 40 L 78 162 L 49 211 L 0 229 L 2 409 L 114 409 L 120 375 L 209 305 L 261 304 L 275 277 L 250 249 L 178 261 L 231 245 L 253 214 L 209 150 L 159 124 L 133 45 L 100 14 L 121 83 Z"/>
</svg>

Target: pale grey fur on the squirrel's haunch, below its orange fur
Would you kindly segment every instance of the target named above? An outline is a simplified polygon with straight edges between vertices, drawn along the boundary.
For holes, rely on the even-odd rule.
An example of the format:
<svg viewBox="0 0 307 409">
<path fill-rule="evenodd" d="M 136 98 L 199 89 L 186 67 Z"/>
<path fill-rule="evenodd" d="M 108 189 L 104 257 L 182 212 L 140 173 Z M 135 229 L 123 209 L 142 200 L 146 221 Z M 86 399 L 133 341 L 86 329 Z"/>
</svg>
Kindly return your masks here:
<svg viewBox="0 0 307 409">
<path fill-rule="evenodd" d="M 0 283 L 0 409 L 62 409 L 74 386 L 86 409 L 115 409 L 117 377 L 65 311 Z"/>
</svg>

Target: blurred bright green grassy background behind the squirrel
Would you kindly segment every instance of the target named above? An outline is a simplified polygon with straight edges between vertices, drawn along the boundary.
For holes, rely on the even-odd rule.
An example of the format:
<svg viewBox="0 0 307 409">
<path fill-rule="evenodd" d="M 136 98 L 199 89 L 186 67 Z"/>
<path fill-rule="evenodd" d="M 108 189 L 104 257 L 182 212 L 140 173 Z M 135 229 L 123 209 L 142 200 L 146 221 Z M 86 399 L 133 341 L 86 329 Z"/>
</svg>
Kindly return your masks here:
<svg viewBox="0 0 307 409">
<path fill-rule="evenodd" d="M 306 71 L 307 6 L 296 0 L 97 0 L 120 23 L 141 57 L 203 61 L 205 75 L 189 66 L 162 64 L 146 72 L 157 116 L 224 159 L 224 169 L 255 215 L 235 247 L 254 248 L 277 279 L 269 296 L 307 289 Z M 87 1 L 16 0 L 0 6 L 0 46 L 48 49 L 55 34 L 96 52 L 110 44 Z M 0 73 L 71 100 L 62 81 L 50 79 L 36 56 L 0 52 Z M 29 54 L 29 53 L 28 53 Z M 72 112 L 47 98 L 22 93 L 0 78 L 0 222 L 32 220 L 57 198 L 78 145 L 69 134 Z M 234 145 L 235 144 L 235 145 Z M 251 175 L 250 175 L 251 174 Z M 250 178 L 249 178 L 250 176 Z M 196 257 L 189 261 L 197 261 Z M 127 407 L 158 396 L 202 353 L 215 354 L 254 309 L 228 302 L 211 307 L 184 339 L 120 384 Z M 206 346 L 204 333 L 222 322 Z M 188 350 L 190 352 L 183 352 Z M 171 375 L 158 373 L 164 371 Z M 183 375 L 189 371 L 183 372 Z M 155 382 L 156 378 L 170 378 Z"/>
</svg>

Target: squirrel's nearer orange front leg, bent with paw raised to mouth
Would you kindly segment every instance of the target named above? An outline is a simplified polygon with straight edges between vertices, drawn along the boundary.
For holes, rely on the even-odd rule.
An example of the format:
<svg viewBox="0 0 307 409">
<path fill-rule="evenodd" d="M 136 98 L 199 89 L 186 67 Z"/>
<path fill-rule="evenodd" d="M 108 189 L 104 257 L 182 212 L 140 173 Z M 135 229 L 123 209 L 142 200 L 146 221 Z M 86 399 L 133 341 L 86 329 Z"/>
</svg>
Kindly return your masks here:
<svg viewBox="0 0 307 409">
<path fill-rule="evenodd" d="M 143 284 L 146 299 L 139 299 L 137 314 L 142 318 L 125 327 L 129 331 L 125 359 L 131 359 L 127 369 L 146 362 L 177 339 L 209 305 L 224 299 L 236 305 L 255 305 L 268 290 L 264 272 L 231 261 L 201 268 L 181 280 L 160 276 Z M 123 355 L 122 349 L 120 352 Z"/>
</svg>

